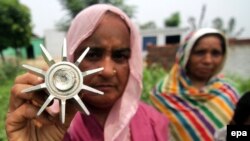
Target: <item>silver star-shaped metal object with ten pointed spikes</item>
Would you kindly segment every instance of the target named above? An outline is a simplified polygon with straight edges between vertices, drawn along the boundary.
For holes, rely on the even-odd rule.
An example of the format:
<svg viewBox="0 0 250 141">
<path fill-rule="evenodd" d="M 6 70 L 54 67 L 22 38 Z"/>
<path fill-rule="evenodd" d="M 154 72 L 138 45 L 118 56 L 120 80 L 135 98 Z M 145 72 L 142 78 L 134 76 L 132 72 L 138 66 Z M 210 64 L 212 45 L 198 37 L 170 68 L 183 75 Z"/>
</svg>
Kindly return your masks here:
<svg viewBox="0 0 250 141">
<path fill-rule="evenodd" d="M 60 118 L 61 122 L 64 123 L 66 101 L 71 98 L 74 98 L 76 102 L 80 105 L 80 107 L 83 109 L 83 111 L 87 115 L 89 115 L 89 111 L 78 96 L 78 93 L 82 89 L 84 89 L 90 92 L 103 95 L 103 92 L 83 84 L 83 79 L 85 76 L 102 71 L 103 68 L 87 70 L 84 72 L 81 72 L 78 68 L 79 64 L 82 62 L 82 60 L 88 53 L 89 47 L 82 53 L 82 55 L 77 59 L 75 63 L 67 61 L 66 39 L 64 39 L 63 42 L 61 62 L 56 63 L 42 44 L 40 45 L 40 47 L 42 49 L 43 58 L 49 65 L 49 69 L 47 71 L 43 71 L 42 69 L 33 66 L 23 65 L 25 69 L 35 73 L 40 77 L 43 77 L 44 83 L 27 88 L 22 92 L 28 93 L 45 89 L 46 92 L 49 94 L 49 97 L 38 111 L 37 116 L 39 116 L 45 110 L 45 108 L 53 99 L 58 99 L 61 105 Z"/>
</svg>

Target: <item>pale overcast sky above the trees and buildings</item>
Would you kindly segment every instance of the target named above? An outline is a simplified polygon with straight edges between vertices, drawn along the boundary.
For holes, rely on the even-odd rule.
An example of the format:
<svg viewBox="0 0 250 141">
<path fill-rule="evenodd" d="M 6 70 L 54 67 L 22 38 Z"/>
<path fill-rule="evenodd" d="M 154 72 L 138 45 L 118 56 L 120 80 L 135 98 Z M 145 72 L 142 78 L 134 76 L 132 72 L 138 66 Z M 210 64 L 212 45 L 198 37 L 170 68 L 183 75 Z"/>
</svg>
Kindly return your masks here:
<svg viewBox="0 0 250 141">
<path fill-rule="evenodd" d="M 56 22 L 66 15 L 59 0 L 20 0 L 31 9 L 34 33 L 44 35 L 47 29 L 54 29 Z M 189 17 L 195 17 L 198 22 L 202 5 L 206 4 L 206 14 L 203 26 L 211 26 L 212 20 L 220 17 L 227 25 L 229 19 L 236 19 L 235 31 L 244 28 L 242 38 L 250 38 L 249 0 L 124 0 L 126 4 L 136 6 L 134 21 L 145 23 L 154 21 L 158 27 L 163 27 L 163 21 L 172 13 L 181 14 L 181 27 L 187 27 Z"/>
</svg>

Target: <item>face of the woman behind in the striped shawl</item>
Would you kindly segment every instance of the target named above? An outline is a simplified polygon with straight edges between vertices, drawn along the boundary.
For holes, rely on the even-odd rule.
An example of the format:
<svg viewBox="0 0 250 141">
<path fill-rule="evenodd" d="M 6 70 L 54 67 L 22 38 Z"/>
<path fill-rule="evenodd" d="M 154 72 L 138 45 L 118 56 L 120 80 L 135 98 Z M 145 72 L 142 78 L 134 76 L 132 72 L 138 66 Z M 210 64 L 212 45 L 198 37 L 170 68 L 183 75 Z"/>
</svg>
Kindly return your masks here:
<svg viewBox="0 0 250 141">
<path fill-rule="evenodd" d="M 187 63 L 187 74 L 192 79 L 208 81 L 218 70 L 224 58 L 222 41 L 214 35 L 198 40 Z"/>
</svg>

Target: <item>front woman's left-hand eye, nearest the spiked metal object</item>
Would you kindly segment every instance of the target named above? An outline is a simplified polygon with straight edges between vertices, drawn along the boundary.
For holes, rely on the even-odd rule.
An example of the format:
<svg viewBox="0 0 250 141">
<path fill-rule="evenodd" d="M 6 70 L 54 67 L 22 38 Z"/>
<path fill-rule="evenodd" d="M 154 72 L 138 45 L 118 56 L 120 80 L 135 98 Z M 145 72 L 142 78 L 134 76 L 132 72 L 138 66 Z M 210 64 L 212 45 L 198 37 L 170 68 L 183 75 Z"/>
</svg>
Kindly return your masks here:
<svg viewBox="0 0 250 141">
<path fill-rule="evenodd" d="M 85 59 L 87 61 L 99 61 L 102 59 L 104 50 L 101 48 L 90 48 L 89 52 L 86 54 Z"/>
</svg>

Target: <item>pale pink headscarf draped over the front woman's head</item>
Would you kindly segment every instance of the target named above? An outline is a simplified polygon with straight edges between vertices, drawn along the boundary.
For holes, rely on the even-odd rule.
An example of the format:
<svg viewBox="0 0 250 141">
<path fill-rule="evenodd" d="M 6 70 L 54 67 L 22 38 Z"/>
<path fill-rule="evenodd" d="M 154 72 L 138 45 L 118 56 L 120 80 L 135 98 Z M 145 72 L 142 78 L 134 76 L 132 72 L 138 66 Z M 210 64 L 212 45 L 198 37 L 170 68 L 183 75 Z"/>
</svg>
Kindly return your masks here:
<svg viewBox="0 0 250 141">
<path fill-rule="evenodd" d="M 130 29 L 131 58 L 128 83 L 123 96 L 112 107 L 104 125 L 105 141 L 122 141 L 129 136 L 129 123 L 137 111 L 142 91 L 141 41 L 135 25 L 124 12 L 112 5 L 90 6 L 81 11 L 71 23 L 67 33 L 68 57 L 69 61 L 73 61 L 77 47 L 93 34 L 107 11 L 119 15 Z"/>
</svg>

